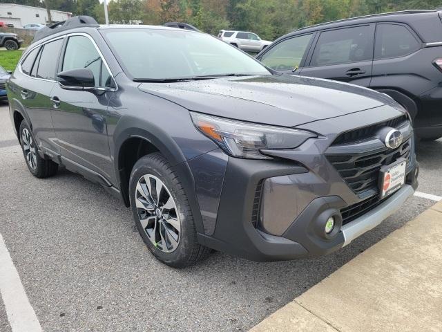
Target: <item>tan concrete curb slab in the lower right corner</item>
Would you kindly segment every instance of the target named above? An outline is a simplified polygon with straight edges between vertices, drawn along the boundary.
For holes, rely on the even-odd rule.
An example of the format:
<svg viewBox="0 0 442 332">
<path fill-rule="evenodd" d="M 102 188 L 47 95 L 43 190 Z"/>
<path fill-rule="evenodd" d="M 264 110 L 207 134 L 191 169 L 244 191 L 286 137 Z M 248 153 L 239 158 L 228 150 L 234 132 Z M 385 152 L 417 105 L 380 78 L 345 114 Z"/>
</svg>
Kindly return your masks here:
<svg viewBox="0 0 442 332">
<path fill-rule="evenodd" d="M 250 331 L 442 331 L 441 225 L 442 201 Z"/>
</svg>

